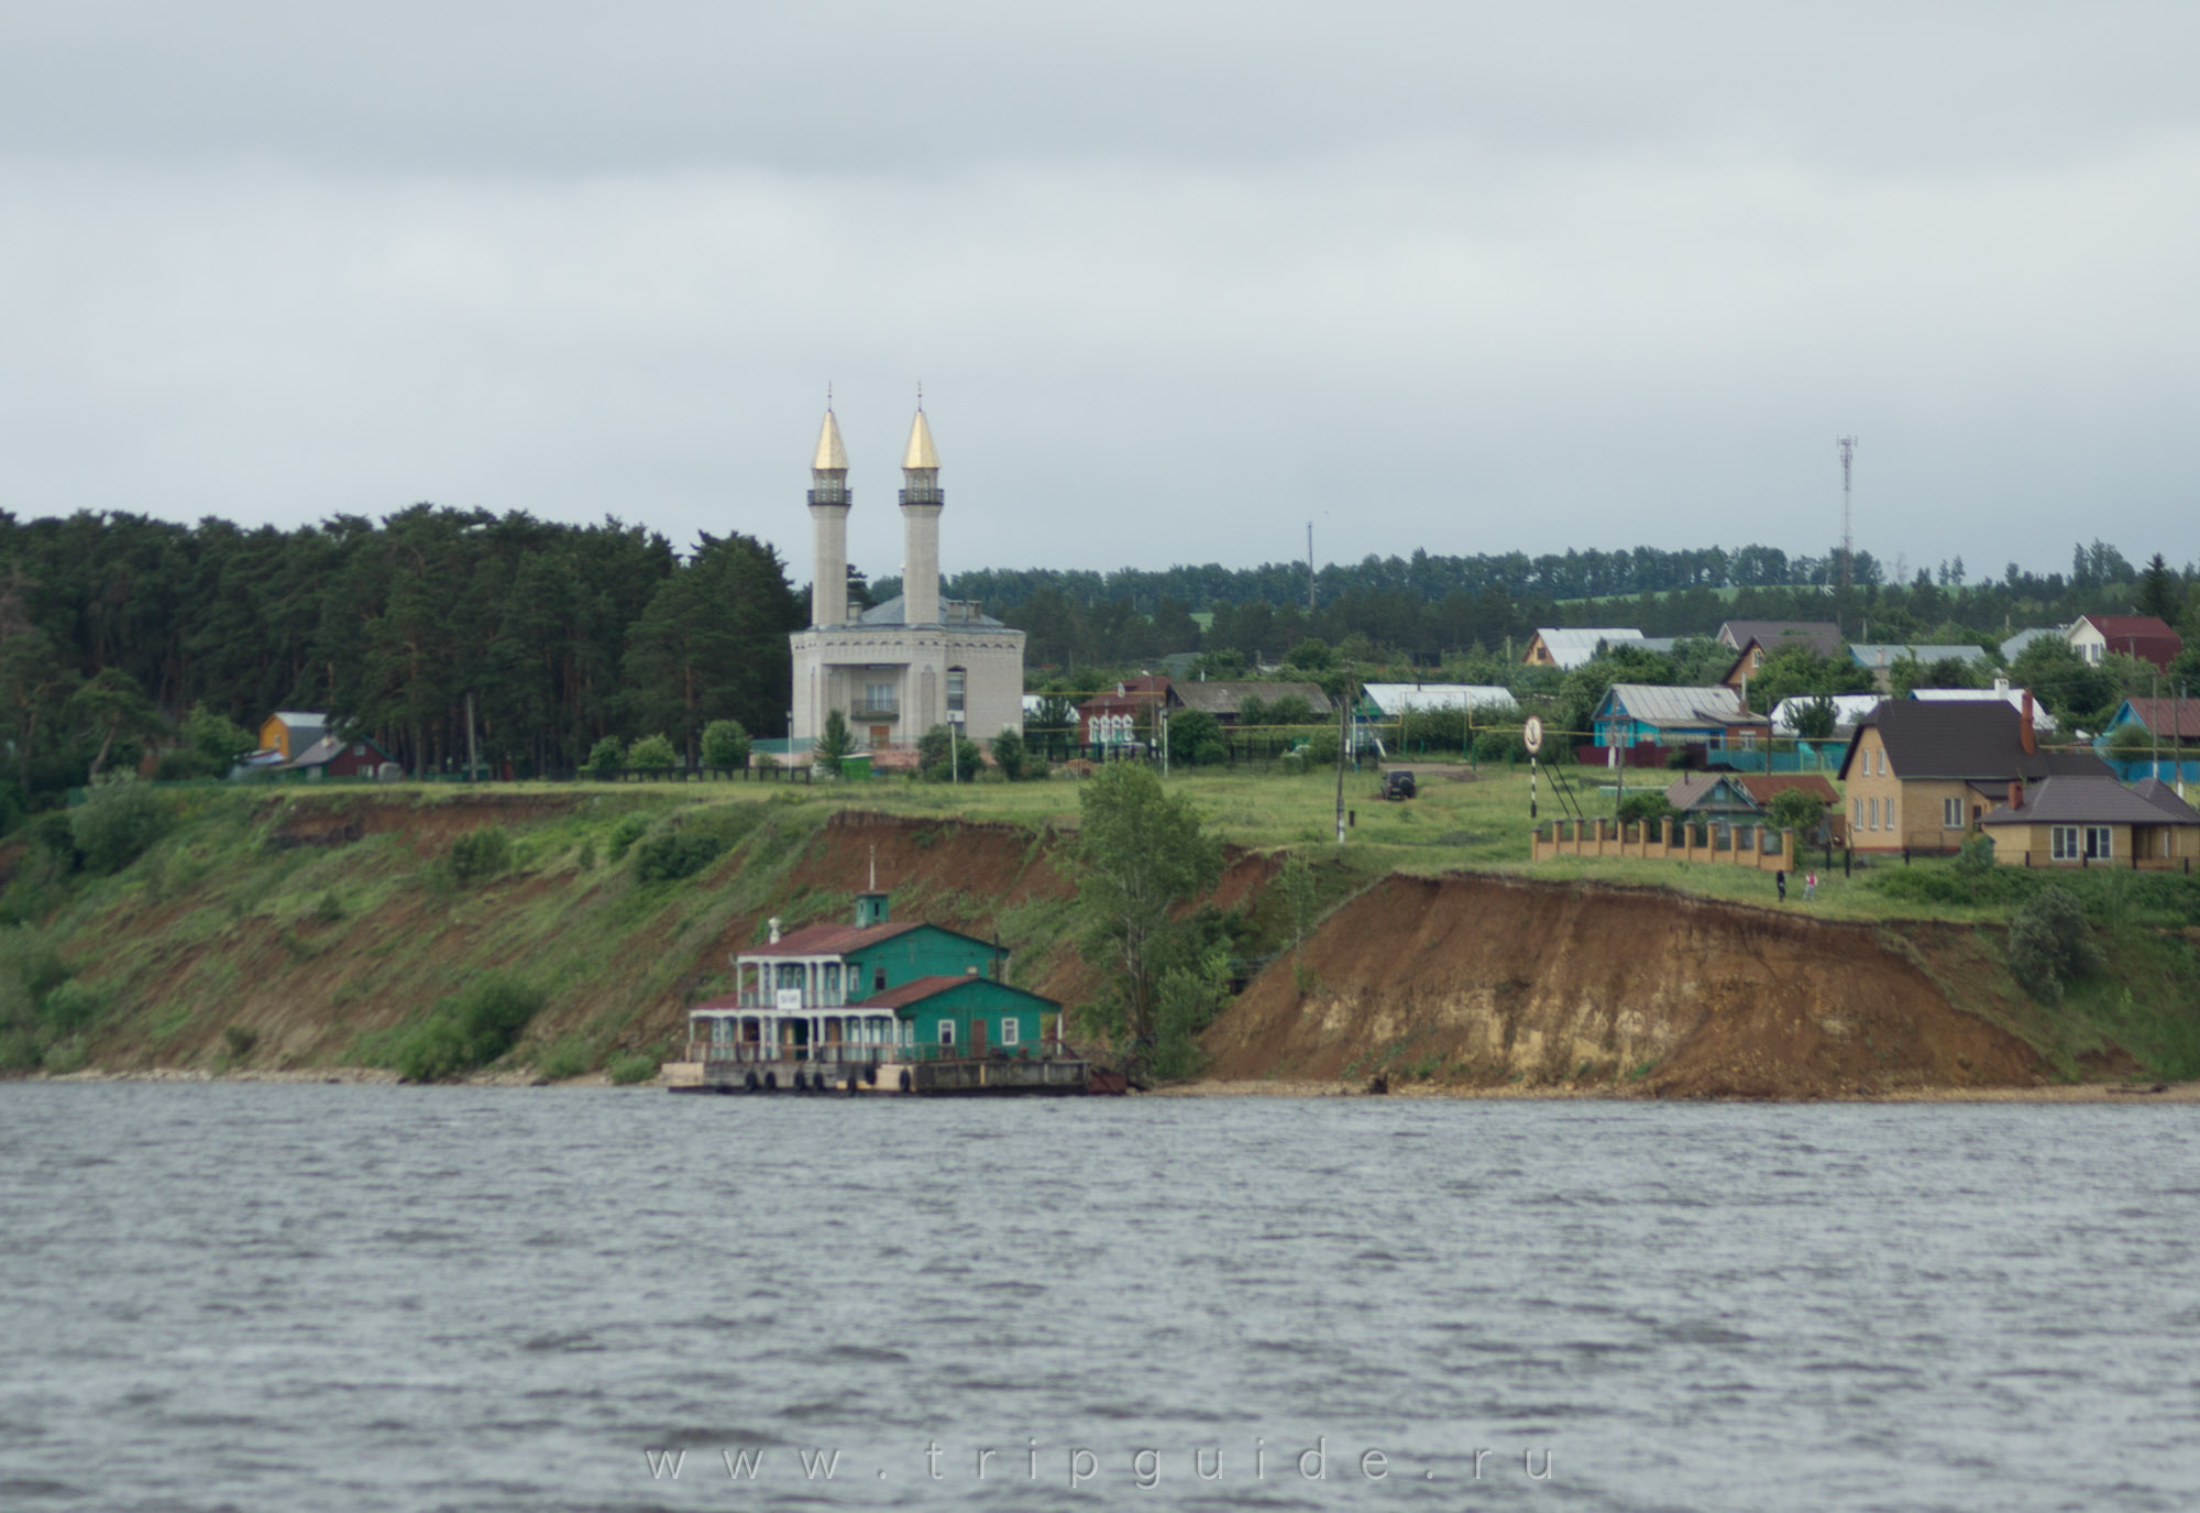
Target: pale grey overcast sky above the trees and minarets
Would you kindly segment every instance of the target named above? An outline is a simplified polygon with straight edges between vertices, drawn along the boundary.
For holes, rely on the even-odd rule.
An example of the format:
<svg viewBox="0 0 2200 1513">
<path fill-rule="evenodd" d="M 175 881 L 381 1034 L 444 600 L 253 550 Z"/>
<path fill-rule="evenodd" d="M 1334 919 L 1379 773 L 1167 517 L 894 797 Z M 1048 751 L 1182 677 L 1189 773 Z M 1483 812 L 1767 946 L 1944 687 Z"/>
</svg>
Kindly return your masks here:
<svg viewBox="0 0 2200 1513">
<path fill-rule="evenodd" d="M 0 508 L 2200 556 L 2200 7 L 13 4 Z"/>
</svg>

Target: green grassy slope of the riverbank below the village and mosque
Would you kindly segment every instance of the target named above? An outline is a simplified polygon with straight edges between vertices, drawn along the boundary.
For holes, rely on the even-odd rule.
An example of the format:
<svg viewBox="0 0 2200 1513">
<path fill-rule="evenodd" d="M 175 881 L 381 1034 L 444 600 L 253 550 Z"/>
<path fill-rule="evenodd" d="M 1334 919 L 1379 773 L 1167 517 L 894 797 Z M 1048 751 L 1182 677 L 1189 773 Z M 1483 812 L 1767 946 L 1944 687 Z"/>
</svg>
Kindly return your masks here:
<svg viewBox="0 0 2200 1513">
<path fill-rule="evenodd" d="M 1604 774 L 1593 774 L 1602 778 Z M 1173 778 L 1236 844 L 1250 849 L 1327 849 L 1333 838 L 1333 776 L 1192 774 Z M 801 891 L 790 873 L 836 807 L 924 818 L 1010 820 L 1034 844 L 1047 825 L 1071 822 L 1074 781 L 970 785 L 946 789 L 898 781 L 845 787 L 783 785 L 583 785 L 554 789 L 552 807 L 508 818 L 519 866 L 484 888 L 453 886 L 440 858 L 455 833 L 438 814 L 453 805 L 539 798 L 543 789 L 473 792 L 387 789 L 374 803 L 411 805 L 403 829 L 345 847 L 275 849 L 299 816 L 365 794 L 282 796 L 191 792 L 187 820 L 117 877 L 79 880 L 48 891 L 42 932 L 90 990 L 97 1012 L 88 1034 L 70 1034 L 48 1064 L 90 1053 L 99 1064 L 220 1064 L 231 1056 L 222 1031 L 253 1029 L 253 1064 L 372 1060 L 392 1029 L 455 992 L 491 965 L 521 965 L 550 985 L 550 1005 L 521 1045 L 519 1060 L 559 1051 L 568 1067 L 601 1067 L 627 1053 L 669 1049 L 667 1003 L 689 1003 L 724 983 L 713 963 L 733 935 L 752 939 L 766 913 L 790 924 L 836 915 L 843 893 Z M 1608 794 L 1586 794 L 1591 814 L 1610 814 Z M 1388 871 L 1505 871 L 1544 880 L 1597 880 L 1679 888 L 1769 906 L 1764 873 L 1718 864 L 1635 860 L 1527 860 L 1527 776 L 1485 770 L 1481 781 L 1430 776 L 1421 796 L 1386 805 L 1373 772 L 1346 778 L 1357 816 L 1340 866 L 1324 869 L 1324 893 L 1344 895 Z M 473 814 L 466 809 L 466 814 Z M 631 864 L 612 862 L 623 820 L 662 825 L 673 814 L 724 827 L 735 851 L 689 882 L 640 886 Z M 1544 816 L 1549 816 L 1544 798 Z M 592 866 L 583 864 L 594 860 Z M 1918 864 L 1921 873 L 1929 866 Z M 1069 915 L 1058 899 L 990 904 L 990 880 L 970 888 L 924 884 L 898 897 L 906 908 L 992 919 L 1027 970 L 1058 965 L 1069 948 Z M 33 888 L 26 875 L 18 897 Z M 2112 877 L 2079 886 L 2116 888 Z M 2112 1047 L 2158 1075 L 2200 1075 L 2200 961 L 2193 939 L 2160 908 L 2094 899 L 2105 919 L 2110 972 L 2081 985 L 2055 1009 L 2017 994 L 2002 963 L 1998 930 L 1936 926 L 1998 924 L 2009 904 L 1960 891 L 1896 897 L 1828 875 L 1811 913 L 1877 919 L 1925 941 L 1936 981 L 1962 1007 L 2037 1045 L 2066 1075 L 2110 1069 Z M 1800 888 L 1789 908 L 1800 910 Z M 1263 908 L 1263 917 L 1274 908 Z M 1269 930 L 1276 919 L 1265 919 Z M 2200 921 L 2191 921 L 2200 924 Z M 746 932 L 746 935 L 744 935 Z M 299 1016 L 297 1005 L 312 1014 Z"/>
</svg>

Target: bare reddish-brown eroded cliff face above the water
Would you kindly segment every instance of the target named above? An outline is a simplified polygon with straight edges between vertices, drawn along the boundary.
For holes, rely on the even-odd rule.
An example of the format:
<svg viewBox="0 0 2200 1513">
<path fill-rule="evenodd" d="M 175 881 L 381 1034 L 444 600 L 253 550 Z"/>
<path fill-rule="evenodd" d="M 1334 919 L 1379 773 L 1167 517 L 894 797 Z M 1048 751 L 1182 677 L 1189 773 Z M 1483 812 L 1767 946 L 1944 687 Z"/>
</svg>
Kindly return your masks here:
<svg viewBox="0 0 2200 1513">
<path fill-rule="evenodd" d="M 1221 1078 L 1412 1071 L 1619 1078 L 1661 1095 L 1811 1097 L 2028 1084 L 2035 1053 L 1954 1009 L 1929 952 L 1872 926 L 1670 893 L 1390 877 L 1274 963 L 1208 1031 Z"/>
</svg>

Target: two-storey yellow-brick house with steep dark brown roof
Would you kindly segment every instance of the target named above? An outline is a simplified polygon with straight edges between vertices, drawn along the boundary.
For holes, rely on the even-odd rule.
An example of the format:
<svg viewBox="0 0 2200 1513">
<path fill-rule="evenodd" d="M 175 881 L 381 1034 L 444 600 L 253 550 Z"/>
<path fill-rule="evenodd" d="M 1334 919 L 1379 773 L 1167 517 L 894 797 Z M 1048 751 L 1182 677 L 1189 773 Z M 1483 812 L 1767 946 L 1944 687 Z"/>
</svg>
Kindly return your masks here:
<svg viewBox="0 0 2200 1513">
<path fill-rule="evenodd" d="M 1954 851 L 2009 783 L 2108 776 L 2092 752 L 2039 750 L 2033 713 L 2000 699 L 1885 699 L 1841 756 L 1848 833 L 1859 851 Z"/>
</svg>

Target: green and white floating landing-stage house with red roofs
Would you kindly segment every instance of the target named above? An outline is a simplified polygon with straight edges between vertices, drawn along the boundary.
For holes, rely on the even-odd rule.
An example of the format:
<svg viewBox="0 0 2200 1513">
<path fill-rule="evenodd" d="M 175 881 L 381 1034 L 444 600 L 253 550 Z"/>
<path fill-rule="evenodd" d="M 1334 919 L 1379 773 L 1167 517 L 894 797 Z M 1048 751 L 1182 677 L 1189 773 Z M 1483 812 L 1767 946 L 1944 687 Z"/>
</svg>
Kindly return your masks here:
<svg viewBox="0 0 2200 1513">
<path fill-rule="evenodd" d="M 1010 987 L 1008 950 L 937 924 L 895 924 L 889 895 L 858 893 L 854 924 L 814 924 L 737 952 L 735 987 L 689 1012 L 717 1047 L 691 1060 L 845 1060 L 878 1047 L 1036 1051 L 1060 1005 Z M 730 1051 L 730 1053 L 728 1053 Z"/>
</svg>

